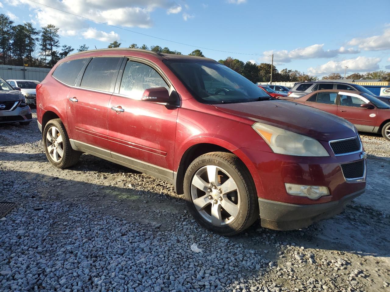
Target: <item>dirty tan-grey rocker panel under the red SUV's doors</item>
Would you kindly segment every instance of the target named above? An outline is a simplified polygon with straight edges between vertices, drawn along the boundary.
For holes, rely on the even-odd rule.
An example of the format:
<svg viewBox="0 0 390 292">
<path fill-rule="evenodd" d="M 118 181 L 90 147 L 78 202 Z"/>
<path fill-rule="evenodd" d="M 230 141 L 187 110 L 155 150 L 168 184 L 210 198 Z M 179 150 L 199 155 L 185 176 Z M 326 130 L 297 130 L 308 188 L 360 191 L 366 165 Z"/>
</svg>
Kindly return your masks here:
<svg viewBox="0 0 390 292">
<path fill-rule="evenodd" d="M 149 164 L 84 142 L 76 141 L 73 139 L 69 139 L 69 141 L 73 150 L 86 152 L 96 157 L 103 158 L 116 164 L 120 164 L 136 171 L 150 174 L 152 176 L 155 176 L 156 178 L 163 179 L 170 183 L 174 183 L 174 172 L 169 169 Z"/>
</svg>

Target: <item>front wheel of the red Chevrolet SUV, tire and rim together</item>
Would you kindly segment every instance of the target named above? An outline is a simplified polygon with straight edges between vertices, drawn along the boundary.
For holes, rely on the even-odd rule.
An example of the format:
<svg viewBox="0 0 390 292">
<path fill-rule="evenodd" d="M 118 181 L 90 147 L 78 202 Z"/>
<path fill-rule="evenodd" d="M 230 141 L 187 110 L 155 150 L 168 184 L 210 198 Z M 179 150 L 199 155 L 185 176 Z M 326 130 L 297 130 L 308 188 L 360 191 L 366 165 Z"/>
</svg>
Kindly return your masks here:
<svg viewBox="0 0 390 292">
<path fill-rule="evenodd" d="M 184 197 L 199 225 L 224 236 L 242 232 L 259 217 L 253 180 L 232 153 L 211 152 L 191 162 Z"/>
</svg>

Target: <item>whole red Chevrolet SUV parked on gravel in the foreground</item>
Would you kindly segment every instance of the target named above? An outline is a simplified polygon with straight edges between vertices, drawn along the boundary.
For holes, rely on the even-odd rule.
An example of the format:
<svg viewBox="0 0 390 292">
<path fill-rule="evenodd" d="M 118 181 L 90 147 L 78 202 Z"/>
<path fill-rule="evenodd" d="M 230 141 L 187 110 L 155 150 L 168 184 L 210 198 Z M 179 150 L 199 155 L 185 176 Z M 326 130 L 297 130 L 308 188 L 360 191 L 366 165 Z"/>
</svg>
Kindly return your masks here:
<svg viewBox="0 0 390 292">
<path fill-rule="evenodd" d="M 85 51 L 37 86 L 48 160 L 82 152 L 165 179 L 203 227 L 232 235 L 259 215 L 289 230 L 340 213 L 365 190 L 356 128 L 277 100 L 207 58 L 140 49 Z"/>
</svg>

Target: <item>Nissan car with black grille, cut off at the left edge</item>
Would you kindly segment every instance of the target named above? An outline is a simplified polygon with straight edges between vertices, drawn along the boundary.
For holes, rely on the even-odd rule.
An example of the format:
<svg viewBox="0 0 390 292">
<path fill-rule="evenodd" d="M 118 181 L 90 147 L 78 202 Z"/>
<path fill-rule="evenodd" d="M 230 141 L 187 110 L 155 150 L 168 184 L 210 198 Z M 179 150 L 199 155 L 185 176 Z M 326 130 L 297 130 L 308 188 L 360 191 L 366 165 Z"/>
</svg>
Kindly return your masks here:
<svg viewBox="0 0 390 292">
<path fill-rule="evenodd" d="M 19 122 L 28 125 L 30 121 L 31 109 L 22 93 L 0 77 L 0 123 Z"/>
</svg>

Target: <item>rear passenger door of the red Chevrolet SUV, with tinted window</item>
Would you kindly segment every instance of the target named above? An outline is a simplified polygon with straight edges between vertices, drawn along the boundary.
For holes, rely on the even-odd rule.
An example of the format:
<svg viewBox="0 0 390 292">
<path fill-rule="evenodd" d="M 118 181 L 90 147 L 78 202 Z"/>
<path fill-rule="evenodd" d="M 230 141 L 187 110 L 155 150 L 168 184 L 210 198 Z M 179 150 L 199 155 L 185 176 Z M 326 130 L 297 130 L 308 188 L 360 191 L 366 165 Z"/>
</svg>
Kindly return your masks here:
<svg viewBox="0 0 390 292">
<path fill-rule="evenodd" d="M 122 57 L 92 58 L 76 86 L 69 90 L 67 117 L 76 143 L 108 149 L 108 103 L 122 60 Z"/>
</svg>

